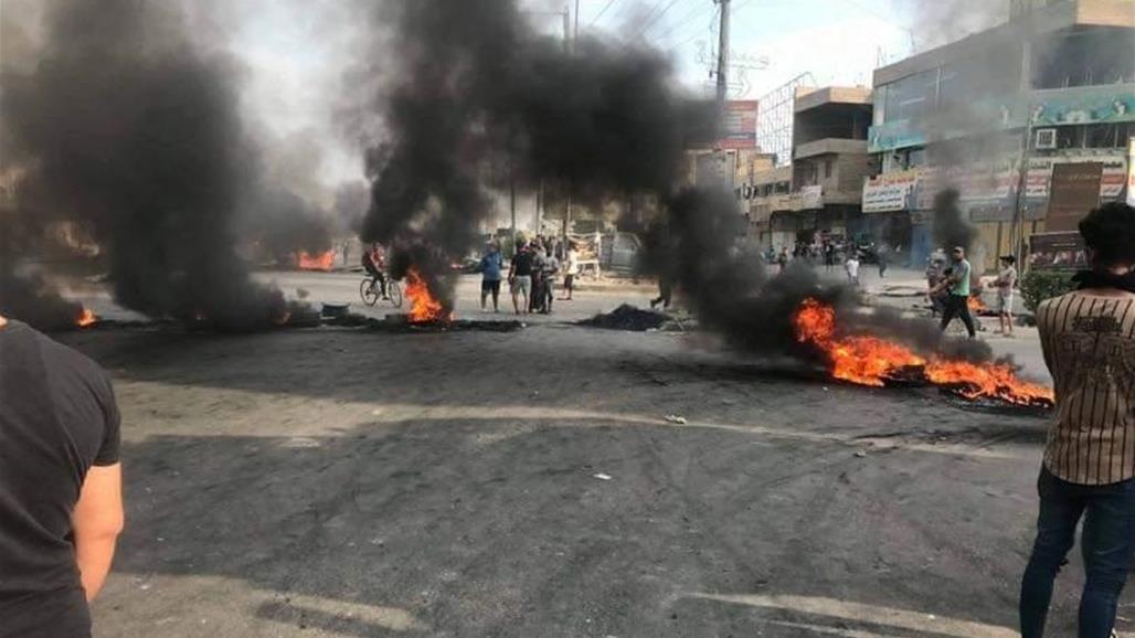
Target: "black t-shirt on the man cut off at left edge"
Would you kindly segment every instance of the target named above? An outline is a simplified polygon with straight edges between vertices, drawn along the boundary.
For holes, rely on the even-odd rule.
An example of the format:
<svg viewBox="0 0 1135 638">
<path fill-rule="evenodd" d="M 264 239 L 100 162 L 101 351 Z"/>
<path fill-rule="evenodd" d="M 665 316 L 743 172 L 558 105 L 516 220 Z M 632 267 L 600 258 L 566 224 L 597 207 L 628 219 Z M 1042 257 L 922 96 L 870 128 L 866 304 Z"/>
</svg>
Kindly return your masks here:
<svg viewBox="0 0 1135 638">
<path fill-rule="evenodd" d="M 0 327 L 0 637 L 90 633 L 70 515 L 118 448 L 106 372 L 24 324 Z"/>
</svg>

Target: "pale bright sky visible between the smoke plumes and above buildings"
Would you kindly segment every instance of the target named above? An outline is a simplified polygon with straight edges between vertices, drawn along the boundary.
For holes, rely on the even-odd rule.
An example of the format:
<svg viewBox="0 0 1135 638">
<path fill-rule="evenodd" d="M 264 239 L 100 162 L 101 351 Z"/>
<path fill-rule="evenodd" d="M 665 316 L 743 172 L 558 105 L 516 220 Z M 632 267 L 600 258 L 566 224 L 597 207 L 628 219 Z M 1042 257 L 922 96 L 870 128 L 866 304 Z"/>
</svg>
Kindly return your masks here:
<svg viewBox="0 0 1135 638">
<path fill-rule="evenodd" d="M 454 0 L 464 1 L 464 0 Z M 574 0 L 519 0 L 533 24 L 563 31 Z M 872 70 L 918 47 L 911 40 L 918 0 L 732 0 L 731 98 L 758 99 L 799 74 L 817 85 L 871 85 Z M 344 61 L 358 47 L 358 22 L 336 0 L 246 0 L 233 34 L 247 66 L 245 104 L 258 125 L 279 140 L 323 140 L 311 157 L 313 176 L 328 185 L 362 177 L 361 151 L 336 133 L 328 96 L 344 90 Z M 252 17 L 253 19 L 247 19 Z M 342 25 L 328 36 L 327 24 Z M 581 35 L 641 37 L 665 51 L 680 82 L 692 91 L 713 85 L 716 54 L 713 0 L 580 0 Z M 645 28 L 644 28 L 645 27 Z M 738 68 L 738 67 L 747 68 Z"/>
</svg>

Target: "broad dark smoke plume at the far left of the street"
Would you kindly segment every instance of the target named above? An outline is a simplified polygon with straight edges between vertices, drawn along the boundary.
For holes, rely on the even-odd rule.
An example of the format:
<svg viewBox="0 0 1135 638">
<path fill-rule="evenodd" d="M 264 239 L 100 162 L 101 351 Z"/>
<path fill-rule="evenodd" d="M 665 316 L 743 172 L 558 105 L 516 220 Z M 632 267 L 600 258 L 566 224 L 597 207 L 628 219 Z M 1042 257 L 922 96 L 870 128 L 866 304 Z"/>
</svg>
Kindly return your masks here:
<svg viewBox="0 0 1135 638">
<path fill-rule="evenodd" d="M 239 211 L 267 207 L 284 233 L 318 233 L 277 224 L 308 211 L 261 192 L 260 149 L 238 112 L 242 77 L 194 43 L 208 40 L 193 33 L 204 20 L 191 28 L 177 3 L 138 0 L 43 10 L 35 64 L 3 68 L 5 151 L 25 171 L 15 215 L 41 230 L 61 219 L 89 226 L 126 308 L 221 329 L 281 317 L 281 293 L 252 283 L 237 257 Z M 15 267 L 0 276 L 15 279 Z"/>
</svg>

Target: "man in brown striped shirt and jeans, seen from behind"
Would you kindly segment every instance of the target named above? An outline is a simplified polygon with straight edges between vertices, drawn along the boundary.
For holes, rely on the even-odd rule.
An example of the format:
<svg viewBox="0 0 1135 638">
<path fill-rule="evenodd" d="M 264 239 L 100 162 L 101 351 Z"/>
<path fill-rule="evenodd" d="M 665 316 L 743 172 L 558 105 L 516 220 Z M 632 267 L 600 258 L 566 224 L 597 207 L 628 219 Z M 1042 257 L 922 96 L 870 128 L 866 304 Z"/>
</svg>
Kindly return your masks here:
<svg viewBox="0 0 1135 638">
<path fill-rule="evenodd" d="M 1037 480 L 1041 512 L 1020 593 L 1024 638 L 1040 638 L 1052 582 L 1084 519 L 1079 637 L 1107 638 L 1135 557 L 1135 209 L 1079 224 L 1092 270 L 1036 311 L 1057 415 Z"/>
</svg>

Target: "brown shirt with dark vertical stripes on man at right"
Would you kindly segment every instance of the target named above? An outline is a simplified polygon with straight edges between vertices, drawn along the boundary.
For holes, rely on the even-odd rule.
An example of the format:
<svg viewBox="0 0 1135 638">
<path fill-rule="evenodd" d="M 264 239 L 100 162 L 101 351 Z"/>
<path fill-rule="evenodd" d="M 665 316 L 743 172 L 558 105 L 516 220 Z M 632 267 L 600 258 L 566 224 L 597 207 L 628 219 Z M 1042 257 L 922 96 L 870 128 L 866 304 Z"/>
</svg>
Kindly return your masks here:
<svg viewBox="0 0 1135 638">
<path fill-rule="evenodd" d="M 1135 478 L 1135 295 L 1069 293 L 1036 320 L 1057 394 L 1044 465 L 1081 485 Z"/>
</svg>

